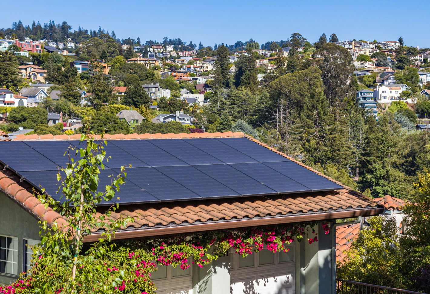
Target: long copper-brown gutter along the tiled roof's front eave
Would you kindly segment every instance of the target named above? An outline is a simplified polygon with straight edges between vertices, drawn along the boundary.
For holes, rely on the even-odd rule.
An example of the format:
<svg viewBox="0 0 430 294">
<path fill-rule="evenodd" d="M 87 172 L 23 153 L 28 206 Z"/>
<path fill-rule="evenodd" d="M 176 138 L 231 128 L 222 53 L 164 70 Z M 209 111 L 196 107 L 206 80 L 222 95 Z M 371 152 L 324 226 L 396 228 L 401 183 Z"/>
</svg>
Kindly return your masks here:
<svg viewBox="0 0 430 294">
<path fill-rule="evenodd" d="M 358 217 L 358 216 L 372 216 L 384 212 L 384 208 L 367 208 L 359 210 L 343 210 L 327 213 L 314 213 L 314 214 L 293 214 L 281 217 L 263 217 L 251 220 L 232 220 L 213 223 L 198 223 L 191 225 L 172 225 L 157 228 L 123 230 L 115 233 L 115 239 L 131 239 L 131 238 L 144 238 L 154 237 L 160 235 L 172 235 L 182 233 L 205 232 L 223 229 L 237 229 L 252 226 L 270 226 L 278 225 L 281 223 L 299 223 L 310 222 L 315 220 L 332 220 L 339 218 Z M 83 242 L 94 242 L 101 238 L 101 232 L 87 235 L 83 238 Z"/>
</svg>

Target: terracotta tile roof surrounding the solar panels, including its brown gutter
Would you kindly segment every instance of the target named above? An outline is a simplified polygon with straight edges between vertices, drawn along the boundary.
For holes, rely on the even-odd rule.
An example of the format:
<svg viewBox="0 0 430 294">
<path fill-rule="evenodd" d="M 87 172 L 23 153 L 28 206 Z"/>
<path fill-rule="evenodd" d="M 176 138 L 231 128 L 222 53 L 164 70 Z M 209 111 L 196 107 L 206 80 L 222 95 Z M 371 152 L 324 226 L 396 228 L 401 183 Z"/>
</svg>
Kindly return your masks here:
<svg viewBox="0 0 430 294">
<path fill-rule="evenodd" d="M 43 139 L 43 140 L 77 140 L 76 135 L 18 135 L 14 140 Z M 303 167 L 304 164 L 293 158 L 270 148 L 250 136 L 241 132 L 232 133 L 181 133 L 181 134 L 131 134 L 131 135 L 107 135 L 105 139 L 157 139 L 157 138 L 210 138 L 210 137 L 246 137 L 251 141 L 264 146 L 294 161 Z M 100 138 L 100 136 L 96 136 Z M 306 167 L 310 171 L 331 180 L 316 170 Z M 60 227 L 66 225 L 66 221 L 60 214 L 51 208 L 45 208 L 33 195 L 33 186 L 26 181 L 20 181 L 20 176 L 12 170 L 3 169 L 0 166 L 0 191 L 13 199 L 28 213 L 38 219 L 46 220 L 49 225 L 55 221 Z M 342 185 L 343 186 L 343 185 Z M 325 192 L 303 192 L 288 195 L 254 196 L 247 198 L 222 198 L 206 200 L 190 200 L 179 202 L 162 202 L 149 204 L 120 205 L 117 212 L 111 217 L 134 217 L 132 223 L 128 223 L 115 234 L 115 238 L 137 238 L 154 235 L 166 235 L 185 232 L 203 232 L 214 229 L 232 229 L 252 226 L 267 226 L 280 223 L 297 223 L 304 221 L 326 220 L 333 218 L 352 217 L 356 215 L 375 215 L 381 212 L 377 203 L 359 194 L 352 189 L 343 186 L 342 189 Z M 84 238 L 84 241 L 94 241 L 99 238 L 99 232 Z"/>
</svg>

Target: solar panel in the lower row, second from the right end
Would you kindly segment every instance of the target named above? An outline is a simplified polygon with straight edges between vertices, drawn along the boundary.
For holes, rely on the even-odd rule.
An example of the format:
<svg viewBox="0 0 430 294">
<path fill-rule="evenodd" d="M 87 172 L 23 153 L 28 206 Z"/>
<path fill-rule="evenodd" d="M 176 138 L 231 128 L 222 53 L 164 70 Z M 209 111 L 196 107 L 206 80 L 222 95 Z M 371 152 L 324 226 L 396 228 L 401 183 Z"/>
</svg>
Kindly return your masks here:
<svg viewBox="0 0 430 294">
<path fill-rule="evenodd" d="M 311 192 L 309 188 L 262 163 L 239 163 L 229 165 L 278 193 Z"/>
</svg>

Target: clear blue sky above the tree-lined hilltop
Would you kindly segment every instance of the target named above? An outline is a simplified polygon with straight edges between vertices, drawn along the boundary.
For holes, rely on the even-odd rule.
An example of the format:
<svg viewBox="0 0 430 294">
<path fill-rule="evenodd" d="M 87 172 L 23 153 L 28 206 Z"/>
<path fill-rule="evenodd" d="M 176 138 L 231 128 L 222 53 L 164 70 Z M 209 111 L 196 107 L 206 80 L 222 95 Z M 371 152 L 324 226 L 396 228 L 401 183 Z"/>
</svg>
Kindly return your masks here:
<svg viewBox="0 0 430 294">
<path fill-rule="evenodd" d="M 160 5 L 156 5 L 160 3 Z M 397 40 L 405 45 L 430 47 L 425 15 L 430 2 L 386 1 L 261 1 L 261 0 L 75 0 L 58 2 L 39 0 L 22 9 L 14 1 L 2 1 L 0 28 L 9 28 L 21 20 L 55 23 L 67 21 L 73 30 L 115 31 L 117 37 L 140 37 L 142 41 L 163 37 L 181 38 L 203 46 L 235 43 L 253 38 L 258 43 L 286 40 L 292 33 L 315 42 L 322 33 L 335 33 L 339 40 Z M 423 25 L 424 24 L 424 25 Z"/>
</svg>

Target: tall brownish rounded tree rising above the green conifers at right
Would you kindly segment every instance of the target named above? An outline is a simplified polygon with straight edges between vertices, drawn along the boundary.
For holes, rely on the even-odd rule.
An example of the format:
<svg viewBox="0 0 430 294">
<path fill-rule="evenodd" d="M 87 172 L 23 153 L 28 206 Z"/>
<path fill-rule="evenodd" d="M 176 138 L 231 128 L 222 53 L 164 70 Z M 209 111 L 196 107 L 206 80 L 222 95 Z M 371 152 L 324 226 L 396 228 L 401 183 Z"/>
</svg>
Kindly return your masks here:
<svg viewBox="0 0 430 294">
<path fill-rule="evenodd" d="M 322 71 L 324 93 L 332 106 L 351 95 L 352 57 L 346 48 L 335 43 L 325 43 L 316 52 L 324 53 L 319 68 Z"/>
</svg>

